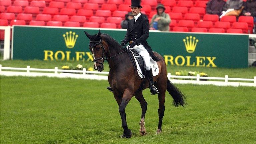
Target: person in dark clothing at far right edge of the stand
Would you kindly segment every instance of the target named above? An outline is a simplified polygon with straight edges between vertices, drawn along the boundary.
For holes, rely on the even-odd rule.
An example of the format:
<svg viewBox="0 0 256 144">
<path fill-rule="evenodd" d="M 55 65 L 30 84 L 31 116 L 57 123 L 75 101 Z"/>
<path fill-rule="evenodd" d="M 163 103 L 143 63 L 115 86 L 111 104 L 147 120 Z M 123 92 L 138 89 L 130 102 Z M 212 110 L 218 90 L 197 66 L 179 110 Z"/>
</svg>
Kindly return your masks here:
<svg viewBox="0 0 256 144">
<path fill-rule="evenodd" d="M 256 0 L 247 0 L 244 2 L 243 15 L 253 16 L 256 22 Z"/>
</svg>

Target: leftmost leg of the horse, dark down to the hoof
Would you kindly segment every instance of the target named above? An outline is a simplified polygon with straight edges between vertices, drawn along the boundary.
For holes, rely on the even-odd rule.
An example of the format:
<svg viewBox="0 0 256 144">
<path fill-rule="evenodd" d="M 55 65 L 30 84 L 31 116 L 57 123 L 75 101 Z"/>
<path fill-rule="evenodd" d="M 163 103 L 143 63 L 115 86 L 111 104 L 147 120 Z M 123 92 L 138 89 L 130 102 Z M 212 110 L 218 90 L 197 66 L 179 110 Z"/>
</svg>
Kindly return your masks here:
<svg viewBox="0 0 256 144">
<path fill-rule="evenodd" d="M 128 129 L 128 126 L 127 126 L 126 113 L 125 113 L 125 108 L 132 97 L 133 97 L 133 93 L 129 90 L 125 90 L 121 104 L 119 106 L 119 113 L 120 113 L 121 120 L 122 120 L 122 127 L 124 129 L 124 133 L 121 137 L 130 138 L 132 136 L 132 132 L 130 129 Z"/>
</svg>

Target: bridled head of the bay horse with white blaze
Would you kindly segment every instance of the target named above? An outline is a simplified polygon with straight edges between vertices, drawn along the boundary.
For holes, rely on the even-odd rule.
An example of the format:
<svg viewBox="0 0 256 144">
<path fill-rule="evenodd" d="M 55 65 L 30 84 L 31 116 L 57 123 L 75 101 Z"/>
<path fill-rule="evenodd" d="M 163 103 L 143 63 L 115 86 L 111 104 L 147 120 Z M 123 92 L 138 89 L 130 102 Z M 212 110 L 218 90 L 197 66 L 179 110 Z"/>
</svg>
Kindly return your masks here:
<svg viewBox="0 0 256 144">
<path fill-rule="evenodd" d="M 106 49 L 104 47 L 102 38 L 100 36 L 100 30 L 99 33 L 96 35 L 90 35 L 86 31 L 84 31 L 86 36 L 90 39 L 90 51 L 93 54 L 93 62 L 94 62 L 94 69 L 98 71 L 103 71 L 104 66 L 103 63 L 105 61 L 105 56 L 106 56 Z"/>
</svg>

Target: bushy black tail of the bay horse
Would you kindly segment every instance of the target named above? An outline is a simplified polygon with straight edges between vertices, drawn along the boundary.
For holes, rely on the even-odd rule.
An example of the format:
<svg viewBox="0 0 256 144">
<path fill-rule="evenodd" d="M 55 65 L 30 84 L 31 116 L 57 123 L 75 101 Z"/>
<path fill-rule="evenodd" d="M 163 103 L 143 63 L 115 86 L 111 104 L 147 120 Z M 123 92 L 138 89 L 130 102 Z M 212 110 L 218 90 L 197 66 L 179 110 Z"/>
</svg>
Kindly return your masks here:
<svg viewBox="0 0 256 144">
<path fill-rule="evenodd" d="M 180 105 L 184 107 L 186 105 L 185 95 L 177 87 L 175 87 L 169 79 L 167 80 L 167 91 L 173 98 L 172 104 L 174 106 L 178 107 Z"/>
</svg>

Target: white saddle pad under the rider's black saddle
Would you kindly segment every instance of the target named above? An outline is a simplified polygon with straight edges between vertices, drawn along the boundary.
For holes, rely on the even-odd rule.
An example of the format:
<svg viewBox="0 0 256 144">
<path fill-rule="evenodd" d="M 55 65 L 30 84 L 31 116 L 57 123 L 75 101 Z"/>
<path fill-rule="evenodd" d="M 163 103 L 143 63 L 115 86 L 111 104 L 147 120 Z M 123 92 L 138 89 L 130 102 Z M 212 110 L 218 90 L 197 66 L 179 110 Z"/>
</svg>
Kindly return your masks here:
<svg viewBox="0 0 256 144">
<path fill-rule="evenodd" d="M 131 50 L 130 50 L 130 51 L 131 51 Z M 136 59 L 136 57 L 138 57 L 138 56 L 134 56 L 133 51 L 131 51 L 131 52 L 132 52 L 132 55 L 133 55 L 134 60 L 135 60 L 135 62 L 136 62 L 137 72 L 138 72 L 139 77 L 140 77 L 140 78 L 145 78 L 145 75 L 142 73 L 142 69 L 143 69 L 143 68 L 140 67 L 140 65 L 139 65 L 139 63 L 138 63 L 138 61 L 137 61 L 137 59 Z M 139 55 L 139 56 L 140 56 L 140 55 Z M 152 68 L 153 76 L 158 75 L 158 73 L 159 73 L 159 67 L 158 67 L 156 61 L 154 61 L 151 57 L 150 57 L 150 66 L 151 66 L 151 68 Z"/>
</svg>

